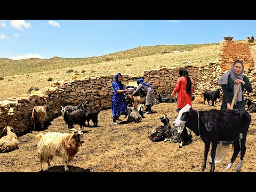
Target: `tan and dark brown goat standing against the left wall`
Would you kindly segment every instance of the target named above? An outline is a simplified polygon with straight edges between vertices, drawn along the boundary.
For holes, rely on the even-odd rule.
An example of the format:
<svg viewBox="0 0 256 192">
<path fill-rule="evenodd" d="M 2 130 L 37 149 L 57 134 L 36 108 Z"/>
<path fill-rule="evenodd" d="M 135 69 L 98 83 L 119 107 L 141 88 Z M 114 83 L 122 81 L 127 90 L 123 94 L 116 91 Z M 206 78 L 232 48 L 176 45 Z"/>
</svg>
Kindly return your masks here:
<svg viewBox="0 0 256 192">
<path fill-rule="evenodd" d="M 51 104 L 51 102 L 49 103 L 49 105 Z M 31 120 L 34 124 L 34 130 L 36 130 L 37 125 L 40 125 L 41 130 L 43 130 L 44 123 L 46 121 L 46 118 L 48 117 L 47 111 L 49 110 L 49 105 L 47 105 L 46 101 L 44 106 L 35 106 L 33 108 Z"/>
</svg>

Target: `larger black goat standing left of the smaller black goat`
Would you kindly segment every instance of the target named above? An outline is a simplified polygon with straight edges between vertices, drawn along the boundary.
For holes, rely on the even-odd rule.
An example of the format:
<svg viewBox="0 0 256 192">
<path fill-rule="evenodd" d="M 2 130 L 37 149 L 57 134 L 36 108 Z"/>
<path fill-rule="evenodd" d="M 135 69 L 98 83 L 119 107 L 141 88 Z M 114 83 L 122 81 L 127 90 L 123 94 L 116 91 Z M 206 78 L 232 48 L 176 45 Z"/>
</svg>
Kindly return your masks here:
<svg viewBox="0 0 256 192">
<path fill-rule="evenodd" d="M 85 122 L 89 114 L 89 110 L 86 110 L 84 107 L 80 107 L 79 109 L 76 109 L 71 113 L 68 113 L 68 111 L 66 111 L 66 109 L 64 108 L 63 118 L 65 123 L 68 125 L 68 129 L 73 128 L 74 124 L 79 124 L 80 129 L 82 129 L 83 126 L 85 126 Z"/>
</svg>

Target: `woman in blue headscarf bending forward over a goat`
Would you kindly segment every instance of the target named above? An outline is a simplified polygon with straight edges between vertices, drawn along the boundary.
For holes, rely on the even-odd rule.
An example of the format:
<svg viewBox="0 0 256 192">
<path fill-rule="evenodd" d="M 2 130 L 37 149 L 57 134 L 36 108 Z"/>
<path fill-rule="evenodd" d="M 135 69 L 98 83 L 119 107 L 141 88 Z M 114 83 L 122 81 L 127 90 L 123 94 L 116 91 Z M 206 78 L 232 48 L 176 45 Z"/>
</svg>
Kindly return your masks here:
<svg viewBox="0 0 256 192">
<path fill-rule="evenodd" d="M 137 79 L 137 89 L 131 94 L 134 95 L 137 92 L 145 92 L 146 93 L 146 101 L 145 101 L 145 106 L 146 106 L 146 113 L 145 114 L 150 114 L 151 113 L 151 106 L 155 105 L 155 95 L 154 95 L 154 89 L 149 85 L 148 83 L 144 83 L 144 80 L 142 78 Z M 142 91 L 141 91 L 142 90 Z"/>
</svg>

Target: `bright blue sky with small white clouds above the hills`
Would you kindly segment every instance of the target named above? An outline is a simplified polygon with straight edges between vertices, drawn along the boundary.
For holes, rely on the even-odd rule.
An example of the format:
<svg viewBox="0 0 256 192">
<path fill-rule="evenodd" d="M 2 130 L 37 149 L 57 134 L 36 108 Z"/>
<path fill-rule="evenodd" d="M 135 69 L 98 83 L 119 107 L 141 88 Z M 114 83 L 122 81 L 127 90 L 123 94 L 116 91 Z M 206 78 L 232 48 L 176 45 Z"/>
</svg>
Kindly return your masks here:
<svg viewBox="0 0 256 192">
<path fill-rule="evenodd" d="M 256 20 L 0 20 L 0 58 L 86 58 L 255 36 Z"/>
</svg>

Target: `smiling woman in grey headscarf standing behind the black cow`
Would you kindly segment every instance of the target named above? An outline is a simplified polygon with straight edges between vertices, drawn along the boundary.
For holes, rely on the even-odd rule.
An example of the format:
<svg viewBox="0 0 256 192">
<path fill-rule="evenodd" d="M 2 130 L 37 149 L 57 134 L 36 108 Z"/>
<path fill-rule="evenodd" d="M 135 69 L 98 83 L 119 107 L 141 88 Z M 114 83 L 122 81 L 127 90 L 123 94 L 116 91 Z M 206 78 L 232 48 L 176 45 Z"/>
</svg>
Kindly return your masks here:
<svg viewBox="0 0 256 192">
<path fill-rule="evenodd" d="M 244 102 L 244 89 L 249 93 L 252 92 L 252 84 L 249 81 L 248 77 L 243 75 L 244 73 L 244 63 L 241 60 L 235 60 L 232 63 L 231 69 L 223 74 L 218 84 L 222 87 L 223 91 L 223 101 L 221 105 L 222 109 L 245 109 Z M 237 85 L 241 83 L 239 87 L 237 97 L 234 103 L 234 107 L 231 108 L 231 101 L 233 100 L 234 93 L 236 91 Z"/>
</svg>

